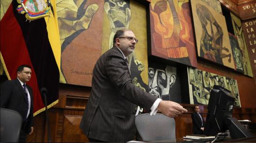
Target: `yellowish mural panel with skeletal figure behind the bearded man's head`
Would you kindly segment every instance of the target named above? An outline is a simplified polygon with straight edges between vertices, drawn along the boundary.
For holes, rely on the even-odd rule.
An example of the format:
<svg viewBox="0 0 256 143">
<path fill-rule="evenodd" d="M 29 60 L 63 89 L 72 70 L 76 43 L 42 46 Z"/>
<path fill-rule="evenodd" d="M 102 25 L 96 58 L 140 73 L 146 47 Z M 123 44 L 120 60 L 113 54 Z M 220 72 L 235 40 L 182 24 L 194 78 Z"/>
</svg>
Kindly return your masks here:
<svg viewBox="0 0 256 143">
<path fill-rule="evenodd" d="M 101 54 L 113 47 L 117 30 L 132 30 L 139 40 L 135 51 L 127 57 L 132 82 L 142 90 L 148 91 L 146 7 L 133 0 L 105 0 L 104 11 Z"/>
</svg>

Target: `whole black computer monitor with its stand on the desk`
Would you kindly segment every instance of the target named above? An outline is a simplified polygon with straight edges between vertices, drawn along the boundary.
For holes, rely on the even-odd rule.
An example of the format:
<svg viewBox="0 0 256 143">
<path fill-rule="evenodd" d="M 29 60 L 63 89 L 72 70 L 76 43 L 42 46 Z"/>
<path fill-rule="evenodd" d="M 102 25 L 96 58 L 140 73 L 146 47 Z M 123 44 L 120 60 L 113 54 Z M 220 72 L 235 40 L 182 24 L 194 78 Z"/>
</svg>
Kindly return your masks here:
<svg viewBox="0 0 256 143">
<path fill-rule="evenodd" d="M 252 134 L 235 118 L 232 118 L 235 97 L 222 86 L 214 85 L 210 93 L 208 113 L 203 134 L 216 136 L 229 130 L 232 139 L 249 137 Z"/>
</svg>

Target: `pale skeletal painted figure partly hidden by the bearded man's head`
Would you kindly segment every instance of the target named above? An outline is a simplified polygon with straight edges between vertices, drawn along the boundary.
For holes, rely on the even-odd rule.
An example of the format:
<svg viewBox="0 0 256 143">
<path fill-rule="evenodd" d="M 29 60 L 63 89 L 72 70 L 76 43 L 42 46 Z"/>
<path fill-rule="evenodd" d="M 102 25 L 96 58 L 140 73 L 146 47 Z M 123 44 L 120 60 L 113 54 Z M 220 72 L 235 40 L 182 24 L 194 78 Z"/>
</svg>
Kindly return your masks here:
<svg viewBox="0 0 256 143">
<path fill-rule="evenodd" d="M 129 29 L 129 23 L 131 20 L 131 9 L 129 0 L 105 0 L 104 4 L 105 12 L 108 15 L 111 33 L 109 36 L 109 46 L 113 46 L 113 38 L 115 32 L 120 29 Z M 135 52 L 128 55 L 128 62 L 131 69 L 132 83 L 137 87 L 140 87 L 144 91 L 148 91 L 147 84 L 142 81 L 141 72 L 145 69 L 145 66 L 139 59 L 136 58 Z"/>
</svg>

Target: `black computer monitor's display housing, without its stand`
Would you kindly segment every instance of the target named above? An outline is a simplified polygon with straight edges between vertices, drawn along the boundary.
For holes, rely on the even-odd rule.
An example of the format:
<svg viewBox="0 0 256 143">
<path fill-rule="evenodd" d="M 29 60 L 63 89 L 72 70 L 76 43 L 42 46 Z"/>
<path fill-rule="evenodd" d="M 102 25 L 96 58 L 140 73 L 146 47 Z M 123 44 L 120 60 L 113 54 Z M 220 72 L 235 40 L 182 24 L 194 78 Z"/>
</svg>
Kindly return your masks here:
<svg viewBox="0 0 256 143">
<path fill-rule="evenodd" d="M 232 117 L 234 104 L 235 97 L 231 95 L 229 90 L 214 85 L 210 93 L 203 134 L 216 136 L 219 132 L 228 130 L 225 119 Z"/>
</svg>

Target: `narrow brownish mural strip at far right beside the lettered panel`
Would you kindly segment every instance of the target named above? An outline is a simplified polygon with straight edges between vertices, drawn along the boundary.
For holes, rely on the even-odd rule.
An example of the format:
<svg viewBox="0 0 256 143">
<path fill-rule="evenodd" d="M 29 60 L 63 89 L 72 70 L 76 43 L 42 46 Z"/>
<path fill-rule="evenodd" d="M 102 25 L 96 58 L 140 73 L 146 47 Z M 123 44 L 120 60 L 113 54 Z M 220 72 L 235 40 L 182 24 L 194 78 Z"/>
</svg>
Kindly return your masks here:
<svg viewBox="0 0 256 143">
<path fill-rule="evenodd" d="M 230 13 L 233 29 L 238 41 L 239 49 L 241 50 L 243 73 L 250 77 L 253 77 L 253 72 L 250 64 L 249 52 L 245 42 L 245 37 L 243 34 L 243 27 L 241 20 L 237 18 L 234 14 Z"/>
</svg>

